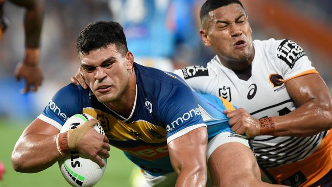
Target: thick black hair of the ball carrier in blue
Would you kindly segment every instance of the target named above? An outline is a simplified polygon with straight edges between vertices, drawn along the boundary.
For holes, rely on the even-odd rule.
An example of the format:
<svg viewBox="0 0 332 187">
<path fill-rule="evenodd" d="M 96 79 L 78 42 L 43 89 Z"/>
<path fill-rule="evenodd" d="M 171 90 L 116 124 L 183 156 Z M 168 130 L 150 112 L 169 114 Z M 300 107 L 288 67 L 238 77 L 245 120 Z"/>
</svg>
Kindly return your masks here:
<svg viewBox="0 0 332 187">
<path fill-rule="evenodd" d="M 76 41 L 78 53 L 88 55 L 90 51 L 115 44 L 117 50 L 126 55 L 127 40 L 123 28 L 114 21 L 96 21 L 84 28 Z"/>
</svg>

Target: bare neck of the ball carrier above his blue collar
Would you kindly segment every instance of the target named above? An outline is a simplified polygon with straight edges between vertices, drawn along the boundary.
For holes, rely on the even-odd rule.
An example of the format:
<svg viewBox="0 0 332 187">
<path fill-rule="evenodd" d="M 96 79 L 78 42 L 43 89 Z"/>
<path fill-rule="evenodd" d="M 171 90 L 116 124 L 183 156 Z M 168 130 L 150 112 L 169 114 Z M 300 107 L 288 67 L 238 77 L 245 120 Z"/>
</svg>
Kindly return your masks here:
<svg viewBox="0 0 332 187">
<path fill-rule="evenodd" d="M 135 103 L 136 89 L 136 76 L 130 76 L 129 84 L 124 90 L 121 98 L 110 103 L 105 103 L 105 105 L 124 118 L 129 118 Z"/>
</svg>

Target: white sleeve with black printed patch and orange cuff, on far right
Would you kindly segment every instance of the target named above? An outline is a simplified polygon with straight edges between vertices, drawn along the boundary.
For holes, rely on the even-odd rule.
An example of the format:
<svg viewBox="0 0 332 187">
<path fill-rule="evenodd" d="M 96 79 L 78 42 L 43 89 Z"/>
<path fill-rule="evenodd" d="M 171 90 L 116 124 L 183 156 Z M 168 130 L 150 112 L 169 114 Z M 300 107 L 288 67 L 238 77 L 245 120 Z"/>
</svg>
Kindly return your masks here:
<svg viewBox="0 0 332 187">
<path fill-rule="evenodd" d="M 301 46 L 289 39 L 274 41 L 276 64 L 280 67 L 285 82 L 306 74 L 318 74 Z"/>
</svg>

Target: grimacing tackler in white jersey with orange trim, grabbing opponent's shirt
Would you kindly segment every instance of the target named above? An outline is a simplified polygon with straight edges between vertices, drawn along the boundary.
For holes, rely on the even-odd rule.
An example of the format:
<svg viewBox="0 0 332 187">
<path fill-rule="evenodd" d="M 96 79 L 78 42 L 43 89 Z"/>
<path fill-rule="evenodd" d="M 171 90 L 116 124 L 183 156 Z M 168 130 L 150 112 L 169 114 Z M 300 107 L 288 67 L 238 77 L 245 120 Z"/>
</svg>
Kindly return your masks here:
<svg viewBox="0 0 332 187">
<path fill-rule="evenodd" d="M 332 102 L 324 81 L 294 41 L 254 40 L 240 1 L 206 1 L 207 67 L 175 73 L 195 91 L 241 106 L 225 111 L 235 133 L 255 137 L 259 166 L 273 183 L 332 186 Z"/>
</svg>

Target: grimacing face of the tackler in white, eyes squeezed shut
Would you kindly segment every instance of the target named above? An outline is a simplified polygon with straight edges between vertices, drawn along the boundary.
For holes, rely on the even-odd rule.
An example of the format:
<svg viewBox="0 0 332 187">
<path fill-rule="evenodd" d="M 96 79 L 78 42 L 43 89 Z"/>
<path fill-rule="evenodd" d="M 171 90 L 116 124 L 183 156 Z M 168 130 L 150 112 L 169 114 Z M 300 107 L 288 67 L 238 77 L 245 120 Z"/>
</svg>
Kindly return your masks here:
<svg viewBox="0 0 332 187">
<path fill-rule="evenodd" d="M 233 3 L 209 12 L 209 17 L 204 19 L 201 37 L 219 57 L 243 61 L 253 53 L 251 33 L 244 9 Z"/>
</svg>

